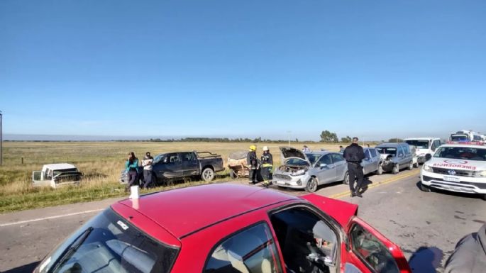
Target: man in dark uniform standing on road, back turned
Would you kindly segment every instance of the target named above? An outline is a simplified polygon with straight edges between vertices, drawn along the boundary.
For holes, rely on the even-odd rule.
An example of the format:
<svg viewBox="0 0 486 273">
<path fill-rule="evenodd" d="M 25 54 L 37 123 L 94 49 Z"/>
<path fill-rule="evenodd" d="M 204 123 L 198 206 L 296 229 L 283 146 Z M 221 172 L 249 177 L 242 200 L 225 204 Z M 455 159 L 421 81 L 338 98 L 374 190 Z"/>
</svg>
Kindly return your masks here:
<svg viewBox="0 0 486 273">
<path fill-rule="evenodd" d="M 360 194 L 361 185 L 363 184 L 363 167 L 361 167 L 361 161 L 365 158 L 363 147 L 358 145 L 358 138 L 353 138 L 353 143 L 346 147 L 344 150 L 344 158 L 348 162 L 349 173 L 349 189 L 351 191 L 351 197 L 358 196 L 363 197 Z M 354 182 L 356 180 L 356 189 Z"/>
</svg>

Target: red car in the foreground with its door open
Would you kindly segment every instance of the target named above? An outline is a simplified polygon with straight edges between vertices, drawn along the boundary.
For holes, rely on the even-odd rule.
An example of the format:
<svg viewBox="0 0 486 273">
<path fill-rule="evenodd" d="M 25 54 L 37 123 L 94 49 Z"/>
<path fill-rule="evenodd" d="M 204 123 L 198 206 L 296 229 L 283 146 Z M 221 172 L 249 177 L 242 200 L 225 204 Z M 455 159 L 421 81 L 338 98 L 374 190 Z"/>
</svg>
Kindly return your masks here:
<svg viewBox="0 0 486 273">
<path fill-rule="evenodd" d="M 411 272 L 358 206 L 235 184 L 126 199 L 84 224 L 34 272 Z"/>
</svg>

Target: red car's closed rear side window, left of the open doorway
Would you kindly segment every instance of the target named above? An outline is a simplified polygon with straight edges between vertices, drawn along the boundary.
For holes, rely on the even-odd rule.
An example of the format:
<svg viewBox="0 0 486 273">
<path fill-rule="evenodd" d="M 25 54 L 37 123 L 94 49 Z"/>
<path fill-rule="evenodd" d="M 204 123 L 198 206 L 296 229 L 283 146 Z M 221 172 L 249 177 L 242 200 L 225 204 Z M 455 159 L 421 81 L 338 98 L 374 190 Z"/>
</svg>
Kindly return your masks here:
<svg viewBox="0 0 486 273">
<path fill-rule="evenodd" d="M 275 241 L 267 224 L 239 231 L 214 248 L 204 273 L 282 272 Z"/>
</svg>

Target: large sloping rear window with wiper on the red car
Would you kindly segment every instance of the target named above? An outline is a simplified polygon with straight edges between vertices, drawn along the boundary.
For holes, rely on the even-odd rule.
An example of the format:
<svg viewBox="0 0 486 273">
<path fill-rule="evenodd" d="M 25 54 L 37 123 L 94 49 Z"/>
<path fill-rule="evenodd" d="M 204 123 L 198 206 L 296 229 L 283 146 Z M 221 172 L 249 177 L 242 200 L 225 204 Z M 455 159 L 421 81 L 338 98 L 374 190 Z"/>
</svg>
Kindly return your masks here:
<svg viewBox="0 0 486 273">
<path fill-rule="evenodd" d="M 177 252 L 177 248 L 155 242 L 109 208 L 51 252 L 36 272 L 168 273 Z"/>
</svg>

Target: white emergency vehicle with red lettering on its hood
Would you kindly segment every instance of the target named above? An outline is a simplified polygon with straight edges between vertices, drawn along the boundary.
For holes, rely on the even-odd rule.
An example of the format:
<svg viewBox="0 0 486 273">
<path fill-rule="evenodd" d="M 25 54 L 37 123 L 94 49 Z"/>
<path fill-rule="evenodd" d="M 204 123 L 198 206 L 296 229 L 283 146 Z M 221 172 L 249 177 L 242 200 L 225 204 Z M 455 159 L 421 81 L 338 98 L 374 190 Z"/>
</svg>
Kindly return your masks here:
<svg viewBox="0 0 486 273">
<path fill-rule="evenodd" d="M 480 194 L 486 200 L 486 146 L 446 144 L 438 147 L 420 172 L 420 189 Z"/>
</svg>

